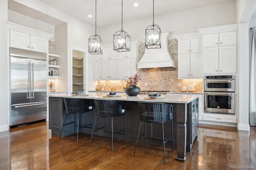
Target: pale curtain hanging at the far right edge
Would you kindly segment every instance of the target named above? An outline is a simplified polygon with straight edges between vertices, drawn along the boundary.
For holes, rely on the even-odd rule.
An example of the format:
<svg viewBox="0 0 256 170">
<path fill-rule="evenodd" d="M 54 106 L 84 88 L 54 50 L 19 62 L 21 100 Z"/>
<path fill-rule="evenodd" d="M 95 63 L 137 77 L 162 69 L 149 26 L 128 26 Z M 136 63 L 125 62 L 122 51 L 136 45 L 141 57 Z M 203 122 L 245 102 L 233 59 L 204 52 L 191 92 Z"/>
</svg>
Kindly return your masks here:
<svg viewBox="0 0 256 170">
<path fill-rule="evenodd" d="M 256 27 L 252 28 L 249 125 L 256 126 Z"/>
</svg>

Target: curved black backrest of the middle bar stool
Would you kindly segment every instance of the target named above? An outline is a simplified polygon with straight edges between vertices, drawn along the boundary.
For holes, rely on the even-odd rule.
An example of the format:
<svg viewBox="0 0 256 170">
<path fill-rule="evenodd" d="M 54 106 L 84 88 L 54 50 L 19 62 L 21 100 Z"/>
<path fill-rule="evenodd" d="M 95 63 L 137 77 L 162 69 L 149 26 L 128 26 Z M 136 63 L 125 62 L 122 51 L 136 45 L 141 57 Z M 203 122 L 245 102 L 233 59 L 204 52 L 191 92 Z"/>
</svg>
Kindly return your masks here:
<svg viewBox="0 0 256 170">
<path fill-rule="evenodd" d="M 118 116 L 124 114 L 122 111 L 124 103 L 118 101 L 109 101 L 109 100 L 94 100 L 96 115 L 98 116 Z"/>
</svg>

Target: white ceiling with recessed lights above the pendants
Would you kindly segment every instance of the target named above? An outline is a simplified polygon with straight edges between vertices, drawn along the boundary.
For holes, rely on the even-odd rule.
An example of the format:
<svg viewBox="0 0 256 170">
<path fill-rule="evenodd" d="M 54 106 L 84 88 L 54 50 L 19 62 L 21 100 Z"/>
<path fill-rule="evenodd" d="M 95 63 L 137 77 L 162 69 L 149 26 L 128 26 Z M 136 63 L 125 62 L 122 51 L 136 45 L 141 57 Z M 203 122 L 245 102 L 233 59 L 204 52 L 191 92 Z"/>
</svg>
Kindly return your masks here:
<svg viewBox="0 0 256 170">
<path fill-rule="evenodd" d="M 62 12 L 95 25 L 95 0 L 40 0 Z M 211 6 L 234 0 L 155 0 L 154 16 Z M 133 6 L 138 3 L 138 6 Z M 97 0 L 97 27 L 121 23 L 121 0 Z M 217 11 L 216 11 L 217 12 Z M 92 18 L 88 15 L 91 14 Z M 153 0 L 123 0 L 123 22 L 152 18 Z M 157 24 L 157 20 L 155 20 Z"/>
</svg>

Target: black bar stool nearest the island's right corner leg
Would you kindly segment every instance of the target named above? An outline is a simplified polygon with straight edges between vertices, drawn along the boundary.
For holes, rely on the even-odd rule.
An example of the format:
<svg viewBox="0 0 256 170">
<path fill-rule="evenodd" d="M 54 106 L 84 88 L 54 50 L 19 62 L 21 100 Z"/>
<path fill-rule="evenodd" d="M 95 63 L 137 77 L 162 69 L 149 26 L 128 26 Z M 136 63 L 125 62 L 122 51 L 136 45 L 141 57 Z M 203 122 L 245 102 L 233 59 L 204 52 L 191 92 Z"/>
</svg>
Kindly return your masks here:
<svg viewBox="0 0 256 170">
<path fill-rule="evenodd" d="M 166 164 L 164 144 L 166 142 L 168 142 L 170 139 L 172 139 L 172 152 L 173 152 L 173 131 L 172 131 L 172 136 L 170 136 L 170 138 L 168 138 L 168 139 L 164 138 L 164 123 L 172 121 L 173 107 L 172 107 L 172 105 L 167 104 L 167 103 L 139 102 L 138 104 L 139 104 L 139 109 L 140 109 L 140 127 L 141 127 L 141 123 L 143 121 L 145 123 L 145 129 L 144 129 L 144 133 L 140 135 L 140 128 L 139 128 L 133 157 L 135 157 L 136 148 L 137 148 L 137 146 L 139 146 L 138 139 L 140 137 L 144 136 L 145 137 L 144 146 L 139 146 L 139 147 L 150 148 L 150 147 L 146 147 L 146 139 L 154 139 L 154 140 L 162 140 L 163 141 L 164 164 Z M 151 138 L 148 138 L 146 136 L 146 123 L 151 123 Z M 162 123 L 163 138 L 157 138 L 152 135 L 152 129 L 153 129 L 152 123 Z M 172 126 L 171 126 L 171 128 L 172 128 Z M 151 148 L 151 149 L 156 149 L 156 148 Z M 160 150 L 160 149 L 156 149 L 156 150 Z"/>
</svg>

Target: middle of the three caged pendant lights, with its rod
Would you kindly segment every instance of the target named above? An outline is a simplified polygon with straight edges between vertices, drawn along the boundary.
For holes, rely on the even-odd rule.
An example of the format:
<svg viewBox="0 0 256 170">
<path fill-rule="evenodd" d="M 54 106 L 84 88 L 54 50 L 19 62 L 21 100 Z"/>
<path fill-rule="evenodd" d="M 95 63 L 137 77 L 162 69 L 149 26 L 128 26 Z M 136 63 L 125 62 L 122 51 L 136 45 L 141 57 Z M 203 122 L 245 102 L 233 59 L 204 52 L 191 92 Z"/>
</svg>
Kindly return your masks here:
<svg viewBox="0 0 256 170">
<path fill-rule="evenodd" d="M 122 28 L 113 36 L 114 50 L 118 52 L 130 51 L 131 43 L 130 36 L 123 30 L 123 0 L 122 0 Z"/>
</svg>

